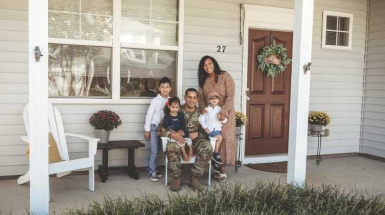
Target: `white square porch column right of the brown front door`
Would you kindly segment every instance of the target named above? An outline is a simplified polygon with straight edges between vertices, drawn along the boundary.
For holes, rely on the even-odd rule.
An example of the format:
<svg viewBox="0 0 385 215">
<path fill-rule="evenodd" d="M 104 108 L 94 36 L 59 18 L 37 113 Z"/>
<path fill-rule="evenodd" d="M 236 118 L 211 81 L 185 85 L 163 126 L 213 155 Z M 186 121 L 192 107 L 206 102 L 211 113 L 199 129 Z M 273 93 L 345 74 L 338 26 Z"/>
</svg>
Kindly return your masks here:
<svg viewBox="0 0 385 215">
<path fill-rule="evenodd" d="M 287 183 L 302 185 L 306 178 L 307 114 L 309 112 L 314 0 L 295 0 L 293 64 L 287 157 Z"/>
</svg>

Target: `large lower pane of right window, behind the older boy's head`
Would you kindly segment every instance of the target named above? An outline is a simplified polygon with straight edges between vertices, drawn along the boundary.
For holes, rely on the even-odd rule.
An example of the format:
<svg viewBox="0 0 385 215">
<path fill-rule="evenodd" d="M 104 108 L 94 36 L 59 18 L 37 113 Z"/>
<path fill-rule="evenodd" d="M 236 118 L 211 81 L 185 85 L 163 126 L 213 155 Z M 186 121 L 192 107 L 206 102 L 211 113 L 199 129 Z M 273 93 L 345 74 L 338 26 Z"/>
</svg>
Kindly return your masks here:
<svg viewBox="0 0 385 215">
<path fill-rule="evenodd" d="M 159 80 L 171 80 L 176 90 L 177 52 L 145 49 L 121 49 L 121 97 L 154 97 Z"/>
</svg>

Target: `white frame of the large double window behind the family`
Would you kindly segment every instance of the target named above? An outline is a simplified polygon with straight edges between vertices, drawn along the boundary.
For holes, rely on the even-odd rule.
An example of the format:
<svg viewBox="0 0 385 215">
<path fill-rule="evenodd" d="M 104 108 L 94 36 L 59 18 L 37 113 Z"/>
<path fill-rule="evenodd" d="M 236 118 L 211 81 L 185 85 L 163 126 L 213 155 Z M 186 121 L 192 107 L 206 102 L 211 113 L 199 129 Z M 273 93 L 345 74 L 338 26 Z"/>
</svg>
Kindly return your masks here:
<svg viewBox="0 0 385 215">
<path fill-rule="evenodd" d="M 151 4 L 150 0 L 150 4 Z M 178 8 L 178 45 L 143 45 L 143 44 L 123 44 L 120 41 L 121 34 L 121 4 L 122 0 L 113 0 L 113 24 L 112 41 L 90 41 L 80 39 L 48 38 L 49 43 L 98 46 L 112 48 L 112 74 L 111 74 L 111 98 L 49 98 L 48 101 L 56 104 L 149 104 L 148 98 L 120 98 L 120 55 L 122 48 L 151 49 L 177 51 L 177 74 L 176 87 L 177 96 L 182 94 L 182 74 L 183 74 L 183 34 L 184 34 L 184 0 L 179 0 Z M 36 29 L 37 31 L 37 29 Z M 175 86 L 173 86 L 175 87 Z"/>
</svg>

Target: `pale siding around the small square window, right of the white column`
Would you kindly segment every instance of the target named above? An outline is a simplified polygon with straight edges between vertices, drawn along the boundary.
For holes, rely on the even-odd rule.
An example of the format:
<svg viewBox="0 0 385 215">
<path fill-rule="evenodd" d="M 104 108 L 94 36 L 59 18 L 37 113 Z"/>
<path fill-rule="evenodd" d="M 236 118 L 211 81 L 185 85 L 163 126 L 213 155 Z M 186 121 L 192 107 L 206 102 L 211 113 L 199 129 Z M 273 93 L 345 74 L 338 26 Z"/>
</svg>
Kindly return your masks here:
<svg viewBox="0 0 385 215">
<path fill-rule="evenodd" d="M 330 137 L 321 154 L 359 152 L 367 0 L 315 0 L 310 110 L 332 117 Z M 322 12 L 353 13 L 352 51 L 321 49 Z M 307 154 L 315 155 L 317 139 L 309 138 Z"/>
</svg>

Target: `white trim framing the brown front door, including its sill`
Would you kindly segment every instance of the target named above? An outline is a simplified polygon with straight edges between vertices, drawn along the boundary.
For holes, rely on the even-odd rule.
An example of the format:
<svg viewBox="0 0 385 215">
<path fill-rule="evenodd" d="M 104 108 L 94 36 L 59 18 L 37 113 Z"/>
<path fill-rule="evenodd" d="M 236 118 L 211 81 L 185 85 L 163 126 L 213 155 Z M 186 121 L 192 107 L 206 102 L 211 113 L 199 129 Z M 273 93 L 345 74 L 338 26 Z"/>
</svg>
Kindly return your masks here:
<svg viewBox="0 0 385 215">
<path fill-rule="evenodd" d="M 243 82 L 242 82 L 242 112 L 246 113 L 246 88 L 247 88 L 247 63 L 248 63 L 248 30 L 249 29 L 264 29 L 264 30 L 277 30 L 277 31 L 293 31 L 294 29 L 294 9 L 265 7 L 256 5 L 242 5 L 242 9 L 245 13 L 245 20 L 243 22 Z M 268 13 L 268 15 L 267 15 Z M 290 116 L 291 117 L 291 116 Z M 282 160 L 282 156 L 267 155 L 260 157 L 247 158 L 245 157 L 245 142 L 246 131 L 245 126 L 242 127 L 242 134 L 244 144 L 241 145 L 242 162 L 250 161 L 249 163 L 261 161 L 279 162 L 287 161 L 287 155 L 285 160 Z"/>
</svg>

